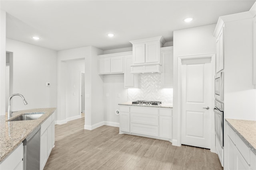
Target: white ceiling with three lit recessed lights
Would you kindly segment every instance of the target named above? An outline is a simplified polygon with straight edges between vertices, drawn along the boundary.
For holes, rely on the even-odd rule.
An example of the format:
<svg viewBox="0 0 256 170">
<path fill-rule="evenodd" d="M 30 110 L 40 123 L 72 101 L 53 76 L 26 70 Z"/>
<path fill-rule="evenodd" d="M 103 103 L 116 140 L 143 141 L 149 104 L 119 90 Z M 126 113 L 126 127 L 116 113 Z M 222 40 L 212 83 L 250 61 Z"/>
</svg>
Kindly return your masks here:
<svg viewBox="0 0 256 170">
<path fill-rule="evenodd" d="M 246 12 L 255 0 L 1 0 L 6 37 L 56 51 L 92 45 L 131 47 L 129 41 L 217 23 L 219 16 Z M 183 21 L 194 17 L 191 23 Z M 107 33 L 114 33 L 112 38 Z M 32 36 L 41 39 L 34 41 Z"/>
</svg>

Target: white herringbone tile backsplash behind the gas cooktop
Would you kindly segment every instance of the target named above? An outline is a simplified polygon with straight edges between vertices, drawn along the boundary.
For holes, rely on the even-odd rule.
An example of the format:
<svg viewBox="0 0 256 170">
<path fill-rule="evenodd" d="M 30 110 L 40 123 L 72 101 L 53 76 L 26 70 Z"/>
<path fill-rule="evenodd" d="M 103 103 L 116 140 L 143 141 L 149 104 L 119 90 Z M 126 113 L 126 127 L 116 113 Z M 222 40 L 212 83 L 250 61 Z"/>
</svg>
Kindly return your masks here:
<svg viewBox="0 0 256 170">
<path fill-rule="evenodd" d="M 129 102 L 136 100 L 161 101 L 172 104 L 172 88 L 161 88 L 161 74 L 139 74 L 139 88 L 128 88 Z"/>
</svg>

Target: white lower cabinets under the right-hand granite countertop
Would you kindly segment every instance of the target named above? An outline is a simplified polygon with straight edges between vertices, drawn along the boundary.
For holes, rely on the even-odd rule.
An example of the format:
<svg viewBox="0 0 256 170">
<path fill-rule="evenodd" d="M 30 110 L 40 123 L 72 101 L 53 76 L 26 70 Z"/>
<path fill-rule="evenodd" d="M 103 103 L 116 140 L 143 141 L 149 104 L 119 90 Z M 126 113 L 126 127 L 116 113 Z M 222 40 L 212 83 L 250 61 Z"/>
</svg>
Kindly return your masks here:
<svg viewBox="0 0 256 170">
<path fill-rule="evenodd" d="M 227 135 L 226 168 L 228 170 L 256 170 L 256 155 L 229 125 L 227 126 Z"/>
</svg>

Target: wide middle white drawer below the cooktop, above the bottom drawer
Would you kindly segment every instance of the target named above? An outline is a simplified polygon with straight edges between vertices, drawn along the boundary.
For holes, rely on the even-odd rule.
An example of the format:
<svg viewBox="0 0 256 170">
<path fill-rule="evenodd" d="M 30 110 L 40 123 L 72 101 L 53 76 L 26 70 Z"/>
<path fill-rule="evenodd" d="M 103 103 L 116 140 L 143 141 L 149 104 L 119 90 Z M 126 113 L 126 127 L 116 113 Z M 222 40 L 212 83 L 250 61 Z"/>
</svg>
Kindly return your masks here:
<svg viewBox="0 0 256 170">
<path fill-rule="evenodd" d="M 131 123 L 158 126 L 158 115 L 131 113 Z"/>
</svg>

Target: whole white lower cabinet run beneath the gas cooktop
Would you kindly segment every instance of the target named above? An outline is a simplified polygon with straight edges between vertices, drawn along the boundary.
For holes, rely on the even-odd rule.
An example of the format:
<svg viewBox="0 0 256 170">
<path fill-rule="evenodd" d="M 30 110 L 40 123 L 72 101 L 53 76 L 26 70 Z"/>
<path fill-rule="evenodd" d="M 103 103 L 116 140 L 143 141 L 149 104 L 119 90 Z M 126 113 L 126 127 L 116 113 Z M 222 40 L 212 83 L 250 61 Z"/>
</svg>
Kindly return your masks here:
<svg viewBox="0 0 256 170">
<path fill-rule="evenodd" d="M 120 106 L 120 133 L 172 140 L 172 109 Z"/>
</svg>

